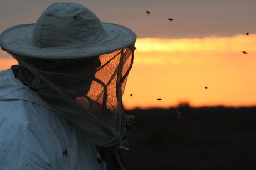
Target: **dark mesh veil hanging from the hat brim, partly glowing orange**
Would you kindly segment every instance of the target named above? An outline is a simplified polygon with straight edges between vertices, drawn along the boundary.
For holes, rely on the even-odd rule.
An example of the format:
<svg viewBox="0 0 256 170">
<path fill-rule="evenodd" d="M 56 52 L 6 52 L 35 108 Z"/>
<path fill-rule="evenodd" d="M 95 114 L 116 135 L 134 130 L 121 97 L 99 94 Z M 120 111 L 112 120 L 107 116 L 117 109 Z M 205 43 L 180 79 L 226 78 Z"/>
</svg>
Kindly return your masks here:
<svg viewBox="0 0 256 170">
<path fill-rule="evenodd" d="M 127 135 L 122 95 L 132 67 L 134 44 L 83 59 L 38 59 L 10 53 L 16 78 L 61 111 L 88 140 L 117 145 Z M 8 51 L 7 51 L 8 52 Z"/>
</svg>

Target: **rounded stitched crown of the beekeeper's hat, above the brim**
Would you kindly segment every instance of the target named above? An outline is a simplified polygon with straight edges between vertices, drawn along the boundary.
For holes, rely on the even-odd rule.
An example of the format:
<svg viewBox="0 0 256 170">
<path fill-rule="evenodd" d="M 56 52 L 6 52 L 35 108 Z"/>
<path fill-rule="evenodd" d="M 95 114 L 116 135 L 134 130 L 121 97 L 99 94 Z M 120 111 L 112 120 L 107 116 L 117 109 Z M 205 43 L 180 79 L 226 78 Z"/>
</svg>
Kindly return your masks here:
<svg viewBox="0 0 256 170">
<path fill-rule="evenodd" d="M 37 47 L 76 48 L 105 37 L 99 18 L 89 9 L 76 3 L 53 3 L 37 20 L 32 43 Z"/>
</svg>

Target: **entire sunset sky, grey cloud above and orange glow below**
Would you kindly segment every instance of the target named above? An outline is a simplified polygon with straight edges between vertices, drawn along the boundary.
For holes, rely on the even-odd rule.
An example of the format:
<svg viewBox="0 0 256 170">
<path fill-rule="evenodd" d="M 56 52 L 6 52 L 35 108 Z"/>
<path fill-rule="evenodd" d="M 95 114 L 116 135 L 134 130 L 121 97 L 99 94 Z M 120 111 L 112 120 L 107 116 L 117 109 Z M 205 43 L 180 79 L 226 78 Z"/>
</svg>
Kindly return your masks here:
<svg viewBox="0 0 256 170">
<path fill-rule="evenodd" d="M 1 0 L 0 32 L 35 23 L 54 2 Z M 91 9 L 101 22 L 124 25 L 137 35 L 125 109 L 175 107 L 180 102 L 193 107 L 256 105 L 255 0 L 72 2 Z M 0 51 L 0 70 L 13 64 Z"/>
</svg>

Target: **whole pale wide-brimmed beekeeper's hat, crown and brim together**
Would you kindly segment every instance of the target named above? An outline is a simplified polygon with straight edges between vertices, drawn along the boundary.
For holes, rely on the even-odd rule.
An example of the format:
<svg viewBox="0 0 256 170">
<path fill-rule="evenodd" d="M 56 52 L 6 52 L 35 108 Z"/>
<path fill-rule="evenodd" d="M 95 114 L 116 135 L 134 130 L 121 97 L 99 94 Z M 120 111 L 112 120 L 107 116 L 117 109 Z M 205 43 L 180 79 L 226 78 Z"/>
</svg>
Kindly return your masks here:
<svg viewBox="0 0 256 170">
<path fill-rule="evenodd" d="M 23 57 L 47 59 L 87 58 L 109 54 L 135 43 L 129 28 L 102 23 L 77 3 L 53 3 L 34 24 L 5 30 L 0 36 L 4 51 Z"/>
</svg>

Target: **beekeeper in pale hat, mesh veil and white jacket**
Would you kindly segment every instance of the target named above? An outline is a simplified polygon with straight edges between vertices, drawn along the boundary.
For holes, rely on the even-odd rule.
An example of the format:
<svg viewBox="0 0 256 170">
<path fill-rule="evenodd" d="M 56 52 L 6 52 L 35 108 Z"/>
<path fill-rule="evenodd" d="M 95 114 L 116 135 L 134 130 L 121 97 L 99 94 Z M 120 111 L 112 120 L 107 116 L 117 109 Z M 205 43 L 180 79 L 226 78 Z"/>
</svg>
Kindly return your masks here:
<svg viewBox="0 0 256 170">
<path fill-rule="evenodd" d="M 5 30 L 1 48 L 19 64 L 0 72 L 0 169 L 106 169 L 95 145 L 127 146 L 135 40 L 76 3 Z"/>
</svg>

